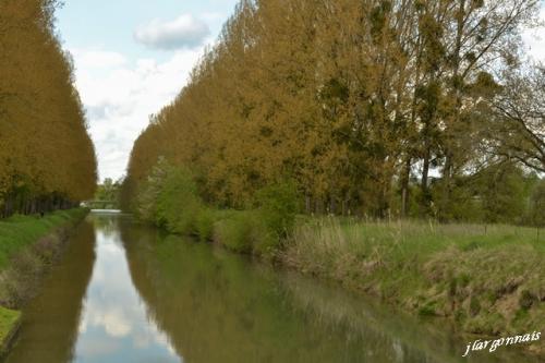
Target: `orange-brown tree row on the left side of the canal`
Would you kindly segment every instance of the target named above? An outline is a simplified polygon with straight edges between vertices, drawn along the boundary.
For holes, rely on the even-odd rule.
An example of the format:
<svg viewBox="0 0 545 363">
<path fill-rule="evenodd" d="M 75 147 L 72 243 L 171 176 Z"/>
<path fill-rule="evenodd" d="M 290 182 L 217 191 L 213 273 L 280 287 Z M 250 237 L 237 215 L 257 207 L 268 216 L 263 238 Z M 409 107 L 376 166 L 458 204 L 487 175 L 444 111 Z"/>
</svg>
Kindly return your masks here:
<svg viewBox="0 0 545 363">
<path fill-rule="evenodd" d="M 96 157 L 53 0 L 0 1 L 0 217 L 93 196 Z"/>
</svg>

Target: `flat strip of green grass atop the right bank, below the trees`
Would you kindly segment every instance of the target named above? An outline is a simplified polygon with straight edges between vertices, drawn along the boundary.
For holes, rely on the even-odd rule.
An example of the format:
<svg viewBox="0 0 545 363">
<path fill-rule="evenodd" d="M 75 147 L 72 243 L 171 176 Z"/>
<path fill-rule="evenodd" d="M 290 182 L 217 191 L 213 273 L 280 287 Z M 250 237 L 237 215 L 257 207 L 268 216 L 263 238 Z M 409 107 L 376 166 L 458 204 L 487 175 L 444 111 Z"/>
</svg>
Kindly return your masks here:
<svg viewBox="0 0 545 363">
<path fill-rule="evenodd" d="M 545 252 L 545 235 L 540 239 L 534 228 L 505 225 L 371 222 L 325 217 L 298 223 L 288 245 L 292 252 L 327 255 L 329 259 L 347 254 L 377 263 L 407 263 L 424 261 L 449 247 L 470 251 L 513 244 Z"/>
</svg>

